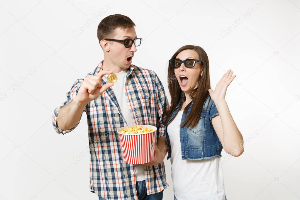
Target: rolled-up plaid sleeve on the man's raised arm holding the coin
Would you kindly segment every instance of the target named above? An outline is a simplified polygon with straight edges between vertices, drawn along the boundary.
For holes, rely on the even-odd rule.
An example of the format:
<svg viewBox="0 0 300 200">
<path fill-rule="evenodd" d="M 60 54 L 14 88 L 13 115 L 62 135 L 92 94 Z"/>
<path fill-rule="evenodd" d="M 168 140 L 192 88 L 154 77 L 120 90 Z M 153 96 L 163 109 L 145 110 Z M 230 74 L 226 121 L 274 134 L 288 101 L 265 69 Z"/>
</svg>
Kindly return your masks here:
<svg viewBox="0 0 300 200">
<path fill-rule="evenodd" d="M 64 107 L 65 105 L 67 105 L 68 103 L 70 103 L 70 102 L 73 100 L 73 98 L 76 96 L 76 94 L 77 94 L 77 92 L 78 92 L 78 90 L 79 90 L 79 87 L 81 86 L 82 82 L 83 82 L 83 79 L 77 79 L 77 80 L 74 82 L 73 86 L 71 87 L 70 91 L 68 91 L 68 92 L 66 93 L 67 100 L 66 100 L 65 102 L 63 102 L 61 106 L 57 107 L 57 108 L 54 110 L 53 115 L 52 115 L 52 125 L 53 125 L 53 127 L 54 127 L 56 133 L 61 133 L 61 134 L 64 135 L 64 134 L 66 134 L 66 133 L 68 133 L 68 132 L 74 130 L 74 129 L 77 127 L 77 125 L 79 124 L 80 119 L 81 119 L 81 117 L 82 117 L 82 114 L 80 115 L 79 121 L 77 122 L 77 124 L 76 124 L 73 128 L 68 129 L 68 130 L 61 130 L 60 128 L 57 127 L 57 115 L 58 115 L 58 111 L 59 111 L 62 107 Z M 86 107 L 84 108 L 84 110 L 82 111 L 82 113 L 83 113 L 83 112 L 86 112 Z"/>
</svg>

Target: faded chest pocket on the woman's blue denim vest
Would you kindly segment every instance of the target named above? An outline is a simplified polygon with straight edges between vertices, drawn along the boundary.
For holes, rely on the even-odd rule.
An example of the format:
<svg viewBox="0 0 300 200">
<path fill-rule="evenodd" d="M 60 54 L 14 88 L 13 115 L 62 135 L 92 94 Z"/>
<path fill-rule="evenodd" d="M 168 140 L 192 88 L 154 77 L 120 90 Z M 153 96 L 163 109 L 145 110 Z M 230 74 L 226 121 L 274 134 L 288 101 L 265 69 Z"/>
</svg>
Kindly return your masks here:
<svg viewBox="0 0 300 200">
<path fill-rule="evenodd" d="M 189 148 L 202 148 L 204 139 L 204 122 L 206 111 L 202 111 L 198 124 L 187 128 L 187 143 Z"/>
</svg>

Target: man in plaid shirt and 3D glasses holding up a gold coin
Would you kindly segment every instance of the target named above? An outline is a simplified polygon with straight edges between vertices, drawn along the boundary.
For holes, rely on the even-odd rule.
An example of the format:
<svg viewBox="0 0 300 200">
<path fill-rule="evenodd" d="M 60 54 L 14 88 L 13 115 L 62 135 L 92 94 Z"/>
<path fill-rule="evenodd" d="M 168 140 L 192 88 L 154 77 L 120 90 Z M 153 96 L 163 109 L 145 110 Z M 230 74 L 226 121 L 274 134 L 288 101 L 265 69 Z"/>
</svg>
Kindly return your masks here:
<svg viewBox="0 0 300 200">
<path fill-rule="evenodd" d="M 163 110 L 169 107 L 164 87 L 152 71 L 132 65 L 140 45 L 134 22 L 116 14 L 98 25 L 104 60 L 77 79 L 67 101 L 55 109 L 52 122 L 57 133 L 72 131 L 86 112 L 90 145 L 90 191 L 99 199 L 162 199 L 168 186 L 164 157 L 167 144 Z M 107 76 L 116 73 L 110 83 Z M 158 127 L 155 158 L 145 165 L 126 164 L 122 158 L 117 129 L 126 125 Z"/>
</svg>

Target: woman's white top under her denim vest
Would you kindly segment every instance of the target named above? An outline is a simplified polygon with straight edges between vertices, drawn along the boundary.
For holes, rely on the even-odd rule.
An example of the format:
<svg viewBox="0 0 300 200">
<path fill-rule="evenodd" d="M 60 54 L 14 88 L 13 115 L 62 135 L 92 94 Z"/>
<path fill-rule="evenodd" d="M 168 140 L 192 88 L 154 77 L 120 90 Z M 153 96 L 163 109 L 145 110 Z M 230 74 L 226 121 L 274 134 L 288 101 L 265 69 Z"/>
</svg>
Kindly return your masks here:
<svg viewBox="0 0 300 200">
<path fill-rule="evenodd" d="M 183 111 L 168 125 L 171 143 L 173 190 L 177 199 L 224 200 L 223 171 L 219 157 L 209 160 L 182 160 L 179 127 Z"/>
</svg>

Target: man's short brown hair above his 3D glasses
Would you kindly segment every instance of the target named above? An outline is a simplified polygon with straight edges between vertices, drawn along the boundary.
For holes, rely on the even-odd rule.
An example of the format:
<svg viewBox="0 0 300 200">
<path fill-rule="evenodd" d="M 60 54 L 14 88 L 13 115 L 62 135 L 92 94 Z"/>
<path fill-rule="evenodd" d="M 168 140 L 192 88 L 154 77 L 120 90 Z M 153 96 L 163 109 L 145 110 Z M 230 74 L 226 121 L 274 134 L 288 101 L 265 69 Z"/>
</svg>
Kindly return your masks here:
<svg viewBox="0 0 300 200">
<path fill-rule="evenodd" d="M 105 17 L 98 25 L 97 37 L 99 43 L 103 39 L 112 39 L 116 28 L 125 28 L 135 26 L 134 22 L 125 15 L 115 14 Z"/>
</svg>

